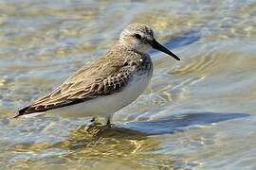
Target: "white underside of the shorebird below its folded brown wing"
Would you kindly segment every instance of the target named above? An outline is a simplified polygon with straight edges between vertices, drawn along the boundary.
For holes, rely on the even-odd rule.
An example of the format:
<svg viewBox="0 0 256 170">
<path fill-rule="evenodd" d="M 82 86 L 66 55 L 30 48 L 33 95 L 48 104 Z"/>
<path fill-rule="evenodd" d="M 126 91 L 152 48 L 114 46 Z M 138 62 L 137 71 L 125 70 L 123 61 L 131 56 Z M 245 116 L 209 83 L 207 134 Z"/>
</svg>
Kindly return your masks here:
<svg viewBox="0 0 256 170">
<path fill-rule="evenodd" d="M 95 116 L 108 118 L 113 113 L 137 99 L 150 82 L 151 76 L 134 76 L 119 93 L 100 96 L 76 105 L 46 111 L 46 115 L 60 115 L 63 117 Z"/>
</svg>

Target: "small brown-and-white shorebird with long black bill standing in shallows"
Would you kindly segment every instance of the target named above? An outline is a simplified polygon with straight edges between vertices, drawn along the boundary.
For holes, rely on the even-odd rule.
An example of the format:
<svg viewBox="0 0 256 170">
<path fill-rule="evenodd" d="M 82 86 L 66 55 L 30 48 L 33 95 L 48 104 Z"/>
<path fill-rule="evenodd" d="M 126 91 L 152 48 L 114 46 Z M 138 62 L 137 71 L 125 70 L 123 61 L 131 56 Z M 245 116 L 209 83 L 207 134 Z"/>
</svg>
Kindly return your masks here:
<svg viewBox="0 0 256 170">
<path fill-rule="evenodd" d="M 113 114 L 147 88 L 153 73 L 152 59 L 147 54 L 151 47 L 180 60 L 155 40 L 150 26 L 126 26 L 119 41 L 105 55 L 83 66 L 51 93 L 19 110 L 14 118 L 38 114 L 92 116 L 92 121 L 103 117 L 110 125 Z"/>
</svg>

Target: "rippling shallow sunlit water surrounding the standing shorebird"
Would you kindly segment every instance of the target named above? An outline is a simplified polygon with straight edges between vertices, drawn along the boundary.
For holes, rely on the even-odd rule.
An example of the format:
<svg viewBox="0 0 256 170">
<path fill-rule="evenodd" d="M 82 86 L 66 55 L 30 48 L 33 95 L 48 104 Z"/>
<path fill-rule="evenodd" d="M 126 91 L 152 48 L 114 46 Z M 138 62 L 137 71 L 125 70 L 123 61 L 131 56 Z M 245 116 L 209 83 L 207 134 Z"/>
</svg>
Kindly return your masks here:
<svg viewBox="0 0 256 170">
<path fill-rule="evenodd" d="M 256 1 L 0 1 L 0 169 L 255 169 Z M 9 120 L 98 58 L 130 23 L 151 51 L 150 87 L 116 127 L 89 118 Z"/>
</svg>

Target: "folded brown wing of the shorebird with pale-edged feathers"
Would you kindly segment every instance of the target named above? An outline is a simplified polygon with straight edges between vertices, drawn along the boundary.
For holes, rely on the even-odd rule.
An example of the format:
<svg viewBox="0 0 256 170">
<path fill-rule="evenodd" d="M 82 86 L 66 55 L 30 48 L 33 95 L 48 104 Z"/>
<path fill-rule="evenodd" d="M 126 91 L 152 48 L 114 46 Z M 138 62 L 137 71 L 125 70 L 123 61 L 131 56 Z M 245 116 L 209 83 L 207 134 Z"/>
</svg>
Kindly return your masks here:
<svg viewBox="0 0 256 170">
<path fill-rule="evenodd" d="M 92 62 L 69 77 L 52 93 L 19 110 L 14 117 L 74 105 L 119 92 L 133 76 L 137 64 L 134 61 L 118 60 L 101 58 Z"/>
</svg>

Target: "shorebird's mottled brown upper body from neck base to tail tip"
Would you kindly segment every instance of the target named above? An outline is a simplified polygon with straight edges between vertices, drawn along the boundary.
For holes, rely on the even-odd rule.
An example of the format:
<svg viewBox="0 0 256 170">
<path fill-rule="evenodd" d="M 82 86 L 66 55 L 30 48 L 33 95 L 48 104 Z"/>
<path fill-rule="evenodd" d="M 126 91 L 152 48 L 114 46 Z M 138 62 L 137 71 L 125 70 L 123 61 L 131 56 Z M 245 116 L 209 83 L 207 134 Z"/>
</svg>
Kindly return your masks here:
<svg viewBox="0 0 256 170">
<path fill-rule="evenodd" d="M 150 57 L 117 44 L 106 55 L 85 65 L 73 76 L 67 78 L 53 92 L 19 110 L 15 117 L 75 105 L 118 93 L 125 88 L 135 74 L 151 77 Z"/>
</svg>

